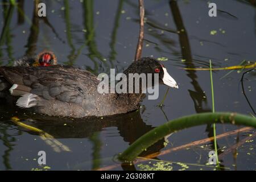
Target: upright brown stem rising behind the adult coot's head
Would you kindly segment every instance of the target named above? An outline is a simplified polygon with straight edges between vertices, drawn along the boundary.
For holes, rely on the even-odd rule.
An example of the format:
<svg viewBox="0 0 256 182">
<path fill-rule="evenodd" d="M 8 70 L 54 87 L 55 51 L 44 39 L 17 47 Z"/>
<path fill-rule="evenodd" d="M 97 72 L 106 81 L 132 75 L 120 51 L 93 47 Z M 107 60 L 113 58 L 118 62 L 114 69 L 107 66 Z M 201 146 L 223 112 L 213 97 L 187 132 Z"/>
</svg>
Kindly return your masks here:
<svg viewBox="0 0 256 182">
<path fill-rule="evenodd" d="M 143 0 L 139 0 L 139 16 L 140 16 L 140 27 L 139 27 L 139 40 L 137 44 L 135 61 L 141 58 L 142 47 L 143 47 L 143 37 L 144 37 L 144 2 Z"/>
</svg>

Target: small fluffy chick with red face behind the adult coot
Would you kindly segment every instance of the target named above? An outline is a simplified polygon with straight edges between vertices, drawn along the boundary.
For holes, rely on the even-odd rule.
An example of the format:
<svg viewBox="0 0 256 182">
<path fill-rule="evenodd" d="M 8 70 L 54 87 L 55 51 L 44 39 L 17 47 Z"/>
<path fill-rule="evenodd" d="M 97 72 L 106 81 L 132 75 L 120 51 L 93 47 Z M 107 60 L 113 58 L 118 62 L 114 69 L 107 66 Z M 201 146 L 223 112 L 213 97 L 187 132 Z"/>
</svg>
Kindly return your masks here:
<svg viewBox="0 0 256 182">
<path fill-rule="evenodd" d="M 14 61 L 14 67 L 47 67 L 56 64 L 56 56 L 51 51 L 43 51 L 37 56 L 24 56 Z"/>
</svg>

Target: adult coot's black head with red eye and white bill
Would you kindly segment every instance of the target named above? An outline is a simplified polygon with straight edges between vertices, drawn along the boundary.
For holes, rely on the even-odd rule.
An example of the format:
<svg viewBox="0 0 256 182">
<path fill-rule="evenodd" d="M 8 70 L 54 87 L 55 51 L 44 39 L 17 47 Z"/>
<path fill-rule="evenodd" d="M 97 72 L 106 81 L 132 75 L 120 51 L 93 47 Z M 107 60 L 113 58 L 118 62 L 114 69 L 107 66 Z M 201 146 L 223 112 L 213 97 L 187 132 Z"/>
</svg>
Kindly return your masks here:
<svg viewBox="0 0 256 182">
<path fill-rule="evenodd" d="M 167 72 L 167 69 L 158 60 L 150 57 L 143 57 L 138 61 L 134 61 L 124 72 L 126 75 L 129 73 L 151 73 L 154 77 L 154 73 L 159 74 L 159 84 L 171 86 L 173 88 L 179 88 L 174 78 Z M 153 79 L 154 80 L 154 79 Z"/>
</svg>

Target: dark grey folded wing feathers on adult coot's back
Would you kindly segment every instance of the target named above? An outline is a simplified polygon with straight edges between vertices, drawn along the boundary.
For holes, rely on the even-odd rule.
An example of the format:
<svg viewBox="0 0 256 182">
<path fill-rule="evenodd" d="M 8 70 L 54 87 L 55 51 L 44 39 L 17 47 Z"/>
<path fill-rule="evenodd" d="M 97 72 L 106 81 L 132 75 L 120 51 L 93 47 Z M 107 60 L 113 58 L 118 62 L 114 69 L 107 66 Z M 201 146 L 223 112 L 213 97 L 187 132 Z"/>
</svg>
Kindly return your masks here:
<svg viewBox="0 0 256 182">
<path fill-rule="evenodd" d="M 26 92 L 44 100 L 59 100 L 82 104 L 85 97 L 97 89 L 100 81 L 92 73 L 81 69 L 64 67 L 0 67 L 10 84 L 20 85 Z"/>
</svg>

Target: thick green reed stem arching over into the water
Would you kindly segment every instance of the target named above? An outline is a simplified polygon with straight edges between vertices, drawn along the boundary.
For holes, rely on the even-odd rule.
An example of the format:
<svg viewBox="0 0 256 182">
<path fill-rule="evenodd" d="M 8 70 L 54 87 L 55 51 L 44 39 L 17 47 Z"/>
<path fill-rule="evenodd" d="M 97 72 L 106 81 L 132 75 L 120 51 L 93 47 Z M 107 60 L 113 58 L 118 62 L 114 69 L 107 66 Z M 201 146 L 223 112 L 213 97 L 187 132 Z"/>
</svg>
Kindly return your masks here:
<svg viewBox="0 0 256 182">
<path fill-rule="evenodd" d="M 142 137 L 138 138 L 123 151 L 122 154 L 118 156 L 118 159 L 125 162 L 132 162 L 146 148 L 166 137 L 168 134 L 193 126 L 213 123 L 230 123 L 233 125 L 244 125 L 256 128 L 256 118 L 249 117 L 248 115 L 218 112 L 187 115 L 168 121 L 148 131 L 148 133 L 142 135 Z"/>
</svg>

